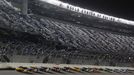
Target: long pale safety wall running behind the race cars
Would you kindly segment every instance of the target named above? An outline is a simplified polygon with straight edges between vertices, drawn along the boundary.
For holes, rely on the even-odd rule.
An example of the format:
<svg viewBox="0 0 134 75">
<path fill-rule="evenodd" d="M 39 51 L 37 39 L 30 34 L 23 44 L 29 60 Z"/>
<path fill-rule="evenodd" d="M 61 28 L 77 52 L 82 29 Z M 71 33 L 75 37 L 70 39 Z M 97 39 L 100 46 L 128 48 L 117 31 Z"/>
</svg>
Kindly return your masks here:
<svg viewBox="0 0 134 75">
<path fill-rule="evenodd" d="M 17 68 L 19 66 L 24 66 L 24 67 L 30 67 L 30 66 L 34 66 L 34 67 L 90 67 L 90 68 L 109 68 L 109 69 L 130 69 L 130 70 L 134 70 L 133 67 L 112 67 L 112 66 L 94 66 L 94 65 L 68 65 L 68 64 L 43 64 L 43 63 L 0 63 L 0 68 Z"/>
</svg>

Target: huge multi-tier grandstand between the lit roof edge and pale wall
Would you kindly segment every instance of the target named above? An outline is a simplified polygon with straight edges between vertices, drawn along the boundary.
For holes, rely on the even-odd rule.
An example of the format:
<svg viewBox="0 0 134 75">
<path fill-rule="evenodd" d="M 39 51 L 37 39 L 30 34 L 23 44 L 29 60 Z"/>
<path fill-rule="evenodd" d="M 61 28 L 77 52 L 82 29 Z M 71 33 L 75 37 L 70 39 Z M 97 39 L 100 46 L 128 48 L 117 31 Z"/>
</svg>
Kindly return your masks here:
<svg viewBox="0 0 134 75">
<path fill-rule="evenodd" d="M 26 15 L 20 0 L 7 1 L 0 0 L 1 62 L 134 66 L 133 25 L 40 0 L 29 0 Z"/>
</svg>

